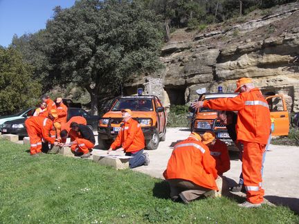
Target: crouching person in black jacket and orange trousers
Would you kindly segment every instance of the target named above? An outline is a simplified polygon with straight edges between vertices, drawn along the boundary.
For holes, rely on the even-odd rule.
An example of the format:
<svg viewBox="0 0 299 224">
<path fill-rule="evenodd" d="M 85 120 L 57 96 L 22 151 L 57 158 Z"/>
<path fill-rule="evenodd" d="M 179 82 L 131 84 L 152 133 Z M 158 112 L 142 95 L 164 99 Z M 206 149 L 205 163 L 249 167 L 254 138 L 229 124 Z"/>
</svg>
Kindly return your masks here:
<svg viewBox="0 0 299 224">
<path fill-rule="evenodd" d="M 73 151 L 73 153 L 75 155 L 83 153 L 81 158 L 88 158 L 89 156 L 91 156 L 90 151 L 92 151 L 92 148 L 96 143 L 96 140 L 93 136 L 93 131 L 87 125 L 78 124 L 77 122 L 71 122 L 70 132 L 71 131 L 75 131 L 74 135 L 78 135 L 74 137 L 75 140 L 71 145 L 71 150 Z M 64 135 L 64 133 L 62 135 Z"/>
</svg>

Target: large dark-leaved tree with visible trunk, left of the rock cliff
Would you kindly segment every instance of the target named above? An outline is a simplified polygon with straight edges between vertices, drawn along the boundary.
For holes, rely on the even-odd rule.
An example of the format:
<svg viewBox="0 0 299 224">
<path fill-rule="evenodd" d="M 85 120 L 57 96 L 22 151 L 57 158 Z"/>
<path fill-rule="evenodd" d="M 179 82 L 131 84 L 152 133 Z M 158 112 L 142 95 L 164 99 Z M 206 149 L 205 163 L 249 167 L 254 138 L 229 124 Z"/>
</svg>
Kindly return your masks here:
<svg viewBox="0 0 299 224">
<path fill-rule="evenodd" d="M 55 8 L 46 26 L 49 78 L 86 88 L 95 113 L 98 100 L 119 93 L 132 75 L 161 66 L 158 25 L 151 10 L 129 0 L 82 0 Z"/>
</svg>

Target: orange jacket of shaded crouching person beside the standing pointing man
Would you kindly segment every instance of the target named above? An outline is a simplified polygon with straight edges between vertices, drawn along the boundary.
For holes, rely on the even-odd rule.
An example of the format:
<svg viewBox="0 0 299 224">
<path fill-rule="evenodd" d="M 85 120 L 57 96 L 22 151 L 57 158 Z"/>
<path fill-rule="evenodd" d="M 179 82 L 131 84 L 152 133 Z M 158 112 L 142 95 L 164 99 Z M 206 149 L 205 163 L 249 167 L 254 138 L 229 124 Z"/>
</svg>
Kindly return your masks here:
<svg viewBox="0 0 299 224">
<path fill-rule="evenodd" d="M 210 154 L 215 158 L 218 175 L 221 175 L 230 169 L 230 157 L 228 148 L 224 142 L 217 139 L 214 145 L 209 147 Z"/>
</svg>

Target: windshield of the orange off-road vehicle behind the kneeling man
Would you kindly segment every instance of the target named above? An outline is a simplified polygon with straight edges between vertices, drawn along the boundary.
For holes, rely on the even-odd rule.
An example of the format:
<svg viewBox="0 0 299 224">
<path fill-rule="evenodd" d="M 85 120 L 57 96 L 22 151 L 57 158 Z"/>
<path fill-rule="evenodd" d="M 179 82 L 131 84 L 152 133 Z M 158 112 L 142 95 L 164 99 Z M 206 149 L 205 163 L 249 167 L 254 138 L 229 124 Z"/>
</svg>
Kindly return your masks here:
<svg viewBox="0 0 299 224">
<path fill-rule="evenodd" d="M 111 111 L 121 111 L 130 109 L 131 111 L 153 111 L 151 99 L 120 99 Z"/>
</svg>

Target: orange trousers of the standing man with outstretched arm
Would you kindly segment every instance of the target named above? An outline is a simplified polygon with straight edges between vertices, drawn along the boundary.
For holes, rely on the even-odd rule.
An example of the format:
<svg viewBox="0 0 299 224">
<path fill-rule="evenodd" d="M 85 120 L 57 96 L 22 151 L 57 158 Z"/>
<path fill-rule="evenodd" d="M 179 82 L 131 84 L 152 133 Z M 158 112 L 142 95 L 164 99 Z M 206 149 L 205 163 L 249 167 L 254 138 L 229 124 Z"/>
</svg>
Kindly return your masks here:
<svg viewBox="0 0 299 224">
<path fill-rule="evenodd" d="M 262 189 L 262 156 L 266 144 L 243 142 L 242 172 L 248 202 L 259 204 L 264 201 Z"/>
</svg>

